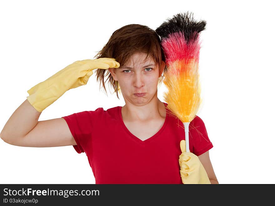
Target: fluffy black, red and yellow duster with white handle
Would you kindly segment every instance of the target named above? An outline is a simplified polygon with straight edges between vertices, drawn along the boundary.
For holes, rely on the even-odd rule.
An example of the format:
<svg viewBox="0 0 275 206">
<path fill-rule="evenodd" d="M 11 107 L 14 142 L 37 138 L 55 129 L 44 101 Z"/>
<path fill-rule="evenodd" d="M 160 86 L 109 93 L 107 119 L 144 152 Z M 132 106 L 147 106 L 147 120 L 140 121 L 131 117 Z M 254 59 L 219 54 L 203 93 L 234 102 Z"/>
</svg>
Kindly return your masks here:
<svg viewBox="0 0 275 206">
<path fill-rule="evenodd" d="M 199 33 L 206 22 L 193 15 L 179 13 L 156 29 L 168 67 L 163 83 L 168 91 L 164 100 L 168 109 L 184 124 L 186 151 L 189 152 L 189 124 L 201 105 L 199 83 Z"/>
</svg>

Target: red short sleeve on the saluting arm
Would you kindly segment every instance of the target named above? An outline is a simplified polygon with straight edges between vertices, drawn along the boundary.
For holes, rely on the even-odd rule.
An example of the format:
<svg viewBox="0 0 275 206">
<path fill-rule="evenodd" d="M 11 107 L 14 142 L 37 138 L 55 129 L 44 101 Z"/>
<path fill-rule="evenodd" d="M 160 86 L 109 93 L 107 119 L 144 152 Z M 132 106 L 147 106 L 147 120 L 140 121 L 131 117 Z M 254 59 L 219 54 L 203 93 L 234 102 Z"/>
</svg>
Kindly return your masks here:
<svg viewBox="0 0 275 206">
<path fill-rule="evenodd" d="M 73 145 L 77 153 L 87 151 L 86 145 L 92 138 L 92 131 L 95 121 L 98 119 L 103 108 L 97 108 L 95 111 L 83 111 L 62 117 L 68 124 L 77 145 Z"/>
</svg>

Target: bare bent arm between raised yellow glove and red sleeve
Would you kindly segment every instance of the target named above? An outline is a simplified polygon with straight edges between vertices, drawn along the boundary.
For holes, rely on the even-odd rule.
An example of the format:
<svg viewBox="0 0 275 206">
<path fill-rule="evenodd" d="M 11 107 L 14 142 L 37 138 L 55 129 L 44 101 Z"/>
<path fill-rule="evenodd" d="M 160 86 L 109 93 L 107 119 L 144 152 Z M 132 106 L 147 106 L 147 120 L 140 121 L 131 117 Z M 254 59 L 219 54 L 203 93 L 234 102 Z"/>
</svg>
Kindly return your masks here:
<svg viewBox="0 0 275 206">
<path fill-rule="evenodd" d="M 8 119 L 0 133 L 1 139 L 25 147 L 76 145 L 65 119 L 38 121 L 40 114 L 26 99 Z"/>
</svg>

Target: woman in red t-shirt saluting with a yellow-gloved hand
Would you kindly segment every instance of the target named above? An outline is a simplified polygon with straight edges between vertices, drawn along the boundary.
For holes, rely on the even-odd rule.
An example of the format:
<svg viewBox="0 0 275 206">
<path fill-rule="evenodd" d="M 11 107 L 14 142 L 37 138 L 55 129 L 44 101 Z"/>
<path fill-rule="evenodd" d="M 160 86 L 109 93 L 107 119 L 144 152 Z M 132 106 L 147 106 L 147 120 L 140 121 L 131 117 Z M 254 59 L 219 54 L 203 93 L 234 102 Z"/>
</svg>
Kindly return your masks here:
<svg viewBox="0 0 275 206">
<path fill-rule="evenodd" d="M 182 183 L 183 124 L 157 97 L 158 83 L 167 70 L 158 35 L 144 25 L 126 25 L 96 56 L 76 61 L 28 90 L 30 95 L 5 124 L 1 138 L 29 147 L 73 145 L 78 153 L 86 153 L 97 184 Z M 108 81 L 117 97 L 122 93 L 123 107 L 38 121 L 64 92 L 87 84 L 94 69 L 105 91 Z M 14 125 L 19 129 L 14 131 Z M 190 152 L 199 160 L 195 164 L 201 162 L 210 182 L 218 183 L 208 153 L 213 145 L 202 119 L 196 116 L 189 131 Z"/>
</svg>

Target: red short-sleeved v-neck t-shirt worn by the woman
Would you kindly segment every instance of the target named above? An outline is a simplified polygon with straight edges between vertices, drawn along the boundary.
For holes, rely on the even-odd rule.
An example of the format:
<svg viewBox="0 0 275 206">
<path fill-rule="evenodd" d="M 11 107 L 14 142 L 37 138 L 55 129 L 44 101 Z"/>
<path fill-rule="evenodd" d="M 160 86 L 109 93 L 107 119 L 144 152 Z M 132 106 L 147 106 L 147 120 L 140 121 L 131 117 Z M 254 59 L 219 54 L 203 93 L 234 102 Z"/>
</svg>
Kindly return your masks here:
<svg viewBox="0 0 275 206">
<path fill-rule="evenodd" d="M 161 129 L 143 141 L 127 129 L 121 108 L 62 117 L 77 143 L 74 149 L 86 153 L 95 183 L 182 184 L 178 159 L 180 141 L 185 140 L 183 123 L 166 112 Z M 196 116 L 189 125 L 190 152 L 199 156 L 212 147 L 202 119 Z"/>
</svg>

